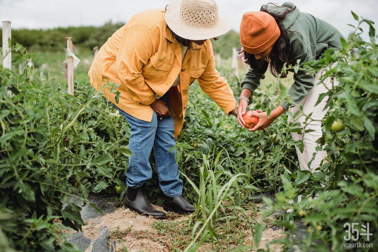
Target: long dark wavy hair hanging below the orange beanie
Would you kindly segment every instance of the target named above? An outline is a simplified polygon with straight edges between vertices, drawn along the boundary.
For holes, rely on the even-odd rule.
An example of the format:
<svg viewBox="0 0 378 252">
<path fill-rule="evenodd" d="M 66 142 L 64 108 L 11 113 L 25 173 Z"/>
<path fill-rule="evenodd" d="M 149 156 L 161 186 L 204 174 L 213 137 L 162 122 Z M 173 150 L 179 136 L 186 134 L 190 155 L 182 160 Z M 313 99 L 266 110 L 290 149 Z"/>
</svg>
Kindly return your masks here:
<svg viewBox="0 0 378 252">
<path fill-rule="evenodd" d="M 284 63 L 290 64 L 292 63 L 291 61 L 293 60 L 291 58 L 291 48 L 290 48 L 289 39 L 287 36 L 287 32 L 291 32 L 291 31 L 283 27 L 282 21 L 285 19 L 287 14 L 289 14 L 290 12 L 293 12 L 296 7 L 294 7 L 293 9 L 286 8 L 286 10 L 282 14 L 279 15 L 279 14 L 269 12 L 267 10 L 268 5 L 274 5 L 279 8 L 286 8 L 286 7 L 277 6 L 273 3 L 268 3 L 267 5 L 265 5 L 265 7 L 262 10 L 260 10 L 271 15 L 274 18 L 274 20 L 276 20 L 277 25 L 281 24 L 278 26 L 281 34 L 278 37 L 277 41 L 274 43 L 272 54 L 268 56 L 268 62 L 270 63 L 270 72 L 275 77 L 277 77 L 277 75 L 280 74 L 282 71 L 283 64 Z M 246 51 L 244 51 L 244 59 L 245 59 L 244 62 L 247 63 L 252 69 L 257 69 L 257 70 L 261 69 L 262 61 L 257 60 L 254 54 L 247 53 Z M 282 73 L 281 77 L 282 78 L 287 77 L 287 73 Z"/>
</svg>

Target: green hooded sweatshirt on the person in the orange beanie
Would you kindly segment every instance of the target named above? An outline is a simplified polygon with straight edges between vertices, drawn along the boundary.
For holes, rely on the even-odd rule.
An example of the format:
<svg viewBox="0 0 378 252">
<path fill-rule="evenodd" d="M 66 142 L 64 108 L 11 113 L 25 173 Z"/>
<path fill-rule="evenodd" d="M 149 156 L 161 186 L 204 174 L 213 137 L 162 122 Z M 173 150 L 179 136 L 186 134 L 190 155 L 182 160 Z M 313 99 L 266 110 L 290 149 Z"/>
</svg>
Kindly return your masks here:
<svg viewBox="0 0 378 252">
<path fill-rule="evenodd" d="M 282 6 L 286 8 L 273 5 L 266 6 L 266 10 L 282 14 L 285 9 L 296 7 L 289 2 L 284 3 Z M 262 9 L 265 9 L 265 5 L 261 7 Z M 279 23 L 279 25 L 283 25 L 283 28 L 288 30 L 286 34 L 290 43 L 291 57 L 295 63 L 298 59 L 301 60 L 300 64 L 318 59 L 328 48 L 339 49 L 341 47 L 340 39 L 342 35 L 338 29 L 311 14 L 299 12 L 298 8 L 290 12 L 282 21 L 282 24 Z M 249 67 L 241 83 L 242 88 L 248 88 L 252 93 L 259 87 L 260 80 L 265 78 L 265 72 L 268 69 L 268 62 L 265 59 L 259 60 L 262 63 L 261 70 L 254 70 Z M 291 70 L 291 72 L 293 71 Z M 298 104 L 313 87 L 314 75 L 298 70 L 294 74 L 294 83 L 288 91 L 288 96 Z M 288 110 L 290 104 L 283 102 L 281 105 L 285 110 Z"/>
</svg>

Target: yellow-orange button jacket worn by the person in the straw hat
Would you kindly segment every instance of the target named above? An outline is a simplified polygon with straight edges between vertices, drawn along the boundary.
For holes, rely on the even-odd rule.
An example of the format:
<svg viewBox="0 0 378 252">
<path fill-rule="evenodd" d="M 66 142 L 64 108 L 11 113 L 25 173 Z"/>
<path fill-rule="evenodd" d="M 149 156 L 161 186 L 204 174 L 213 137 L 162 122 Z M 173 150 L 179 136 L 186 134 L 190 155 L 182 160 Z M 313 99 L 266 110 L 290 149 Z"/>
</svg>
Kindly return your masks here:
<svg viewBox="0 0 378 252">
<path fill-rule="evenodd" d="M 115 93 L 104 90 L 105 97 L 121 110 L 151 122 L 149 106 L 155 94 L 168 94 L 175 122 L 175 137 L 180 133 L 188 102 L 189 85 L 198 80 L 208 94 L 229 114 L 235 98 L 227 80 L 215 69 L 211 41 L 191 43 L 182 59 L 182 47 L 167 28 L 164 9 L 136 14 L 101 47 L 88 72 L 96 90 L 108 82 L 119 84 L 119 103 Z M 182 63 L 181 63 L 182 62 Z M 172 87 L 180 74 L 180 85 Z"/>
</svg>

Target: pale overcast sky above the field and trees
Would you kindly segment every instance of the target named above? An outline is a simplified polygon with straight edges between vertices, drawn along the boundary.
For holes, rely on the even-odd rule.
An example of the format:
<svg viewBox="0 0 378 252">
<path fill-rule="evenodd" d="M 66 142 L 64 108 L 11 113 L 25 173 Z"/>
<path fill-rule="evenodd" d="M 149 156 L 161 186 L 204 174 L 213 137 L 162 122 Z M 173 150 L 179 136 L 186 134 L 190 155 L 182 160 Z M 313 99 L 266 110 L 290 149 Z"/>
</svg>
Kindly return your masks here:
<svg viewBox="0 0 378 252">
<path fill-rule="evenodd" d="M 112 20 L 127 22 L 147 9 L 164 8 L 171 0 L 0 0 L 0 19 L 12 22 L 12 28 L 53 28 L 58 26 L 99 26 Z M 242 14 L 259 11 L 269 0 L 217 0 L 218 7 L 231 18 L 239 31 Z M 282 4 L 282 2 L 274 3 Z M 293 0 L 302 12 L 323 19 L 347 36 L 355 24 L 350 11 L 378 22 L 376 0 Z M 375 25 L 377 28 L 377 25 Z"/>
</svg>

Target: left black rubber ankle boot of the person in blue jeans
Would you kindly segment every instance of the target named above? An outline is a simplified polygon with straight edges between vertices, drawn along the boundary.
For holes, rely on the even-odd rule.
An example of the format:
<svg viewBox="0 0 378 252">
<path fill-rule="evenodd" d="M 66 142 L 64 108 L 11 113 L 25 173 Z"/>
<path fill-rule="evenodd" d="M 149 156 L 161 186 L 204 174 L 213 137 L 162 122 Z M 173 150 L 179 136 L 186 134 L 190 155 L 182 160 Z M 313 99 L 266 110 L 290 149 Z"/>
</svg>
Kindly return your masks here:
<svg viewBox="0 0 378 252">
<path fill-rule="evenodd" d="M 123 205 L 130 210 L 139 213 L 140 215 L 165 219 L 166 214 L 164 212 L 156 210 L 155 208 L 153 208 L 153 206 L 151 206 L 151 203 L 148 201 L 146 193 L 144 192 L 145 189 L 146 184 L 143 184 L 142 186 L 135 189 L 129 187 L 123 201 Z"/>
</svg>

